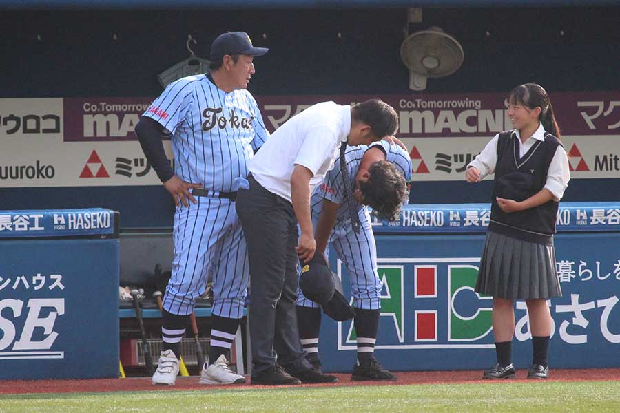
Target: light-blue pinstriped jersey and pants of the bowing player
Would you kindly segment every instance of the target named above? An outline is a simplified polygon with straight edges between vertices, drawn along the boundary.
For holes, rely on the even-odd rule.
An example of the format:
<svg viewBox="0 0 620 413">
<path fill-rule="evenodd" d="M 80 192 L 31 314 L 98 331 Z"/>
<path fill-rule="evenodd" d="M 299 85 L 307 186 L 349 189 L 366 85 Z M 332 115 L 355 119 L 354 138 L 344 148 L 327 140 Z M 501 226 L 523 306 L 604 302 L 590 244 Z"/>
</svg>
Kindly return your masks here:
<svg viewBox="0 0 620 413">
<path fill-rule="evenodd" d="M 411 180 L 411 158 L 409 153 L 397 145 L 381 140 L 370 147 L 381 145 L 386 153 L 386 160 L 392 162 L 406 181 Z M 370 148 L 365 145 L 348 147 L 344 156 L 347 160 L 349 177 L 355 180 L 364 153 Z M 354 182 L 353 182 L 354 186 Z M 346 202 L 344 202 L 344 185 L 340 173 L 340 162 L 335 162 L 334 169 L 327 173 L 324 182 L 311 198 L 312 221 L 316 228 L 319 214 L 322 209 L 322 201 L 327 199 L 335 204 L 340 204 L 338 215 L 334 224 L 329 242 L 333 246 L 338 258 L 344 263 L 351 280 L 351 296 L 353 306 L 365 310 L 378 310 L 381 308 L 381 290 L 383 284 L 377 273 L 377 249 L 375 237 L 371 226 L 368 209 L 358 205 L 361 231 L 355 233 L 351 225 L 351 218 Z M 326 251 L 327 253 L 327 251 Z M 298 289 L 298 306 L 317 307 L 318 304 L 306 299 Z"/>
</svg>

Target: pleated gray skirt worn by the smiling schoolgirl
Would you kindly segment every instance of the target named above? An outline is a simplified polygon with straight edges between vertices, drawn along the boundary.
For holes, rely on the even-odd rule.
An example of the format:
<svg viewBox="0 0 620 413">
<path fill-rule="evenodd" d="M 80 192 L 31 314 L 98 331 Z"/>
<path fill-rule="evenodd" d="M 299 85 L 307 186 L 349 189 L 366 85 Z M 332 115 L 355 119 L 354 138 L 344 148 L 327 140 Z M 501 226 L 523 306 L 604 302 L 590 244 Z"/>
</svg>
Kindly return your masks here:
<svg viewBox="0 0 620 413">
<path fill-rule="evenodd" d="M 561 297 L 555 248 L 488 231 L 475 290 L 507 299 Z"/>
</svg>

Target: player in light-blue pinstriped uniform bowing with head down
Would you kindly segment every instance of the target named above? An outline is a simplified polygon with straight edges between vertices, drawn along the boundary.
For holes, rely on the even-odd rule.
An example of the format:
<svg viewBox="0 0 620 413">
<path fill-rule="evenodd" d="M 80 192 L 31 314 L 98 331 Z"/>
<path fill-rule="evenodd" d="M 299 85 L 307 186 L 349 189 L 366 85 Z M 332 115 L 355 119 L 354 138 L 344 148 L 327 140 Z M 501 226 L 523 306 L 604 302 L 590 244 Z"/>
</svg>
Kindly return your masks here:
<svg viewBox="0 0 620 413">
<path fill-rule="evenodd" d="M 331 242 L 338 258 L 344 262 L 351 280 L 355 307 L 355 332 L 358 360 L 353 366 L 352 380 L 395 380 L 394 374 L 382 368 L 374 357 L 379 328 L 382 282 L 377 272 L 377 251 L 369 211 L 373 207 L 381 218 L 395 219 L 402 204 L 409 200 L 411 158 L 402 147 L 381 140 L 367 147 L 347 147 L 344 154 L 347 176 L 355 188 L 358 201 L 360 233 L 353 231 L 351 213 L 344 202 L 345 185 L 340 162 L 327 173 L 324 182 L 311 199 L 315 227 L 316 251 L 327 255 Z M 298 290 L 297 319 L 300 339 L 307 359 L 320 369 L 318 337 L 321 323 L 320 306 Z"/>
</svg>

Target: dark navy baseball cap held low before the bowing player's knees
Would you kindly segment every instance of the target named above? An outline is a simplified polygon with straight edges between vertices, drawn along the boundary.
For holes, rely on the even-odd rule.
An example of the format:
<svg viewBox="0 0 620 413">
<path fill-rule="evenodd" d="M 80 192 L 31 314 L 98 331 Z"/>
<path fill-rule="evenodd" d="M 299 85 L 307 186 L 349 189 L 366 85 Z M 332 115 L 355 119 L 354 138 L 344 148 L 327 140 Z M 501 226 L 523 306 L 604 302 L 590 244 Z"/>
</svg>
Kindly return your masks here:
<svg viewBox="0 0 620 413">
<path fill-rule="evenodd" d="M 302 264 L 299 287 L 307 299 L 320 304 L 323 312 L 335 321 L 347 321 L 355 317 L 355 311 L 342 295 L 342 282 L 331 272 L 320 253 L 308 264 Z"/>
</svg>

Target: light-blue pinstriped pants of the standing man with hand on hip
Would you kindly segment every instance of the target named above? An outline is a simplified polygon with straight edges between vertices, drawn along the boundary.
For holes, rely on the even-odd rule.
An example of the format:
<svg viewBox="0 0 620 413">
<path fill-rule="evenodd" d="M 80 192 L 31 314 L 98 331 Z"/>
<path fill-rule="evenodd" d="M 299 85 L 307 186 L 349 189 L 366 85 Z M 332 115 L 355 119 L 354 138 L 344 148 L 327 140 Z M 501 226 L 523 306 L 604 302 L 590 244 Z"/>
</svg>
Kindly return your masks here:
<svg viewBox="0 0 620 413">
<path fill-rule="evenodd" d="M 249 266 L 235 203 L 220 198 L 196 200 L 189 207 L 177 207 L 174 214 L 174 261 L 163 307 L 172 314 L 189 315 L 211 276 L 213 314 L 239 319 Z"/>
</svg>

